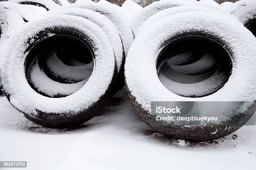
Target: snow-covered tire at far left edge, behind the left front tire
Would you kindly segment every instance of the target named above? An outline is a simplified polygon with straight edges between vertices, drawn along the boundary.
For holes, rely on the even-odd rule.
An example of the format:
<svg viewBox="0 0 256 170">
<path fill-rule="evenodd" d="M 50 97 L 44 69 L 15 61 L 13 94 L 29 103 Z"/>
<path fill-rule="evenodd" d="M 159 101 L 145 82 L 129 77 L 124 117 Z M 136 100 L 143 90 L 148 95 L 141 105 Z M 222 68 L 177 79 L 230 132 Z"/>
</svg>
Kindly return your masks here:
<svg viewBox="0 0 256 170">
<path fill-rule="evenodd" d="M 16 11 L 7 9 L 7 2 L 0 2 L 0 63 L 2 62 L 1 53 L 2 48 L 5 48 L 5 44 L 9 37 L 15 34 L 18 30 L 25 25 L 23 18 Z M 5 48 L 6 49 L 6 48 Z M 1 77 L 1 75 L 0 75 Z M 0 95 L 3 94 L 0 83 Z"/>
</svg>

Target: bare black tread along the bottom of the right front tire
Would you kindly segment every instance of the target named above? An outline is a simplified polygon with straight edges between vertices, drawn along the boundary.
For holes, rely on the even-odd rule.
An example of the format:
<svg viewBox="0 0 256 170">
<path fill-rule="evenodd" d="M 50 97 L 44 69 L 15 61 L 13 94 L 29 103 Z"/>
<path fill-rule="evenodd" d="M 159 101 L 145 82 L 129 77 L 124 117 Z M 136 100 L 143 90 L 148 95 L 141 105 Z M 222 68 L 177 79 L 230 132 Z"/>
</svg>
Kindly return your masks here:
<svg viewBox="0 0 256 170">
<path fill-rule="evenodd" d="M 246 112 L 240 114 L 237 117 L 233 117 L 231 120 L 223 122 L 223 124 L 220 125 L 209 124 L 206 126 L 192 126 L 191 128 L 177 125 L 164 125 L 159 124 L 159 121 L 156 121 L 156 117 L 149 114 L 141 107 L 140 104 L 138 104 L 138 102 L 136 102 L 136 98 L 131 95 L 131 92 L 128 88 L 127 92 L 135 112 L 141 118 L 141 120 L 146 122 L 149 127 L 154 129 L 156 132 L 159 132 L 170 138 L 189 140 L 193 142 L 215 140 L 229 135 L 246 124 L 246 122 L 248 122 L 248 120 L 254 115 L 256 111 L 256 102 L 254 102 L 254 104 L 251 105 L 251 107 L 249 107 Z M 230 130 L 225 130 L 225 128 L 227 128 L 226 126 L 232 128 L 230 128 Z M 218 129 L 219 133 L 212 134 L 212 132 L 214 132 L 216 129 Z"/>
</svg>

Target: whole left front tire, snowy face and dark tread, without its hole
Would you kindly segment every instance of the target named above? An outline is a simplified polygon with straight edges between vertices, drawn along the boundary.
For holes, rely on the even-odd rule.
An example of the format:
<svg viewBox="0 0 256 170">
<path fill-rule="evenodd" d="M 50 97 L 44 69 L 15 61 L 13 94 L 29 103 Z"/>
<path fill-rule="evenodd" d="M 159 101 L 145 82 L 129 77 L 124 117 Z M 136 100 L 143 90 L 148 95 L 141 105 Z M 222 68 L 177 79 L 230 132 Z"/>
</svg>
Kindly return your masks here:
<svg viewBox="0 0 256 170">
<path fill-rule="evenodd" d="M 51 35 L 50 37 L 53 37 L 58 34 L 69 34 L 72 36 L 82 38 L 82 40 L 86 40 L 87 42 L 90 43 L 93 53 L 94 53 L 93 60 L 95 63 L 97 62 L 97 58 L 100 58 L 98 60 L 104 60 L 105 57 L 108 57 L 109 60 L 111 60 L 108 63 L 111 63 L 111 65 L 113 65 L 114 67 L 106 68 L 104 75 L 107 74 L 108 72 L 112 72 L 113 75 L 108 75 L 110 77 L 105 78 L 103 80 L 104 82 L 109 82 L 111 80 L 109 82 L 110 84 L 101 85 L 102 87 L 104 87 L 104 89 L 106 88 L 105 92 L 102 94 L 103 90 L 100 89 L 100 92 L 98 92 L 99 94 L 92 94 L 88 90 L 85 93 L 91 94 L 92 97 L 90 97 L 88 100 L 84 100 L 82 102 L 82 105 L 86 106 L 86 108 L 79 108 L 78 110 L 77 110 L 77 107 L 80 107 L 80 106 L 77 106 L 78 104 L 76 104 L 76 102 L 75 102 L 77 100 L 76 97 L 68 96 L 69 99 L 72 99 L 72 101 L 66 100 L 65 97 L 63 98 L 63 100 L 66 102 L 74 103 L 75 106 L 70 105 L 67 107 L 70 111 L 69 110 L 59 111 L 59 110 L 63 110 L 61 107 L 64 104 L 62 102 L 63 101 L 62 98 L 56 99 L 56 100 L 58 100 L 57 103 L 59 103 L 60 105 L 58 106 L 57 110 L 52 111 L 54 109 L 52 107 L 49 108 L 48 105 L 49 105 L 49 103 L 51 103 L 51 101 L 54 101 L 55 99 L 47 101 L 47 98 L 42 96 L 42 94 L 41 94 L 41 96 L 38 96 L 38 93 L 31 89 L 31 88 L 33 88 L 32 86 L 28 87 L 26 85 L 26 87 L 24 87 L 22 85 L 18 85 L 21 88 L 24 87 L 24 88 L 28 89 L 29 91 L 32 90 L 32 91 L 30 91 L 31 97 L 36 95 L 40 98 L 40 99 L 38 99 L 38 97 L 37 97 L 36 99 L 31 99 L 31 100 L 34 100 L 34 101 L 37 100 L 38 104 L 41 103 L 41 100 L 44 100 L 44 102 L 48 103 L 48 104 L 47 103 L 45 104 L 45 106 L 47 107 L 45 109 L 38 104 L 28 102 L 28 103 L 26 103 L 26 105 L 29 105 L 28 107 L 33 107 L 33 109 L 31 111 L 27 111 L 28 107 L 23 105 L 24 102 L 19 100 L 18 102 L 20 102 L 20 103 L 18 105 L 16 102 L 13 102 L 13 96 L 15 96 L 15 95 L 17 96 L 17 92 L 23 93 L 24 90 L 19 90 L 19 88 L 15 88 L 16 90 L 14 90 L 14 91 L 16 92 L 16 94 L 13 90 L 10 91 L 11 87 L 9 85 L 13 85 L 13 83 L 10 82 L 10 81 L 12 81 L 11 77 L 13 77 L 13 76 L 10 74 L 13 74 L 13 72 L 8 71 L 8 69 L 12 70 L 11 66 L 8 68 L 5 67 L 5 69 L 3 69 L 3 67 L 1 68 L 1 73 L 3 76 L 1 76 L 0 80 L 1 80 L 1 82 L 7 82 L 7 83 L 4 83 L 4 85 L 3 85 L 3 91 L 5 93 L 5 96 L 9 100 L 9 102 L 13 105 L 13 107 L 15 107 L 18 110 L 18 112 L 21 113 L 21 115 L 26 117 L 28 120 L 31 120 L 39 125 L 43 125 L 43 126 L 51 127 L 51 128 L 53 128 L 53 127 L 54 128 L 69 127 L 69 126 L 79 125 L 81 123 L 84 123 L 84 122 L 92 119 L 95 115 L 97 115 L 102 110 L 102 108 L 108 103 L 110 98 L 114 95 L 114 93 L 113 93 L 115 91 L 114 90 L 115 89 L 114 82 L 117 79 L 117 67 L 116 67 L 115 55 L 114 55 L 113 49 L 111 49 L 111 45 L 108 41 L 107 35 L 105 35 L 105 33 L 99 27 L 97 27 L 97 25 L 91 23 L 90 21 L 84 20 L 80 17 L 70 16 L 70 15 L 55 15 L 55 16 L 52 16 L 51 19 L 54 20 L 51 23 L 49 23 L 49 18 L 40 18 L 39 20 L 33 21 L 33 23 L 29 23 L 26 27 L 28 29 L 30 29 L 31 27 L 33 28 L 34 25 L 37 25 L 38 26 L 37 28 L 40 28 L 39 27 L 40 24 L 44 25 L 44 28 L 42 28 L 43 26 L 40 28 L 40 30 L 42 30 L 42 31 L 36 33 L 38 30 L 34 30 L 34 33 L 33 33 L 34 36 L 30 37 L 29 39 L 26 39 L 27 37 L 23 37 L 23 38 L 21 38 L 20 42 L 17 42 L 18 41 L 17 37 L 15 38 L 15 36 L 14 36 L 11 38 L 10 44 L 13 44 L 13 43 L 11 43 L 13 41 L 15 43 L 17 42 L 16 45 L 21 45 L 23 41 L 28 42 L 27 46 L 21 47 L 21 49 L 24 50 L 23 52 L 27 52 L 27 53 L 26 53 L 26 57 L 24 57 L 24 59 L 21 59 L 22 62 L 24 62 L 23 68 L 21 68 L 22 65 L 20 65 L 20 67 L 18 69 L 24 69 L 24 67 L 26 68 L 25 70 L 30 69 L 30 65 L 32 64 L 31 61 L 36 60 L 34 55 L 30 54 L 30 52 L 33 49 L 33 47 L 36 47 L 35 45 L 38 42 L 40 42 L 39 40 L 47 39 L 47 38 L 49 38 L 49 35 Z M 79 26 L 74 25 L 74 23 L 79 23 Z M 50 26 L 49 25 L 47 26 L 47 24 L 49 24 Z M 54 25 L 54 26 L 52 26 L 52 25 Z M 87 28 L 85 28 L 85 27 L 87 27 Z M 26 32 L 26 28 L 21 30 L 20 33 Z M 82 30 L 79 30 L 79 28 Z M 88 29 L 92 29 L 94 31 L 88 33 L 88 31 L 86 31 Z M 16 36 L 18 36 L 18 35 L 16 35 Z M 90 37 L 90 36 L 95 36 L 95 37 Z M 30 41 L 32 39 L 33 39 L 33 41 Z M 10 45 L 10 44 L 8 44 L 8 45 Z M 103 45 L 105 45 L 105 46 L 103 47 L 102 50 L 100 50 L 100 49 L 97 49 L 98 46 L 95 46 L 95 45 L 102 45 L 102 47 L 103 47 Z M 110 48 L 108 48 L 108 47 L 110 47 Z M 107 53 L 105 53 L 106 50 L 107 50 Z M 102 53 L 103 51 L 104 51 L 104 54 Z M 23 52 L 21 52 L 19 54 L 22 55 Z M 97 56 L 96 56 L 96 54 L 97 54 Z M 106 54 L 108 54 L 108 55 L 111 54 L 111 56 L 105 56 Z M 10 54 L 8 54 L 8 52 L 5 52 L 5 54 L 4 54 L 4 56 L 9 56 L 9 55 Z M 20 60 L 20 58 L 16 55 L 11 55 L 11 56 L 15 57 L 17 60 Z M 7 60 L 9 60 L 9 59 L 10 59 L 10 57 L 4 57 L 5 62 L 7 62 Z M 10 59 L 9 61 L 12 62 L 13 60 Z M 105 64 L 104 63 L 102 64 L 102 62 L 98 62 L 94 68 L 95 74 L 96 74 L 96 71 L 99 72 L 99 70 L 101 70 L 100 68 L 103 68 L 103 67 L 106 67 Z M 17 69 L 17 68 L 13 68 L 13 69 Z M 28 73 L 29 73 L 29 71 L 25 71 L 22 74 L 24 74 L 26 76 Z M 98 76 L 102 76 L 102 75 L 95 75 L 95 74 L 92 75 L 92 77 L 94 77 L 92 80 L 97 80 Z M 97 78 L 95 76 L 97 76 Z M 28 77 L 26 79 L 22 78 L 21 81 L 29 82 L 29 79 L 28 79 Z M 93 87 L 93 85 L 95 85 L 94 83 L 95 83 L 95 81 L 94 82 L 90 81 L 90 85 L 91 85 L 90 88 L 96 89 L 95 91 L 97 92 L 97 90 L 99 91 L 99 88 Z M 96 83 L 97 84 L 102 83 L 102 80 L 99 78 L 99 80 L 97 80 Z M 87 89 L 87 88 L 85 88 L 85 89 Z M 80 91 L 80 93 L 77 92 L 77 94 L 75 96 L 79 95 L 79 97 L 82 97 L 83 96 L 82 94 L 84 94 L 84 92 L 82 92 L 83 91 L 82 89 L 80 89 L 79 91 Z M 26 95 L 27 92 L 24 94 Z M 95 96 L 99 96 L 99 98 L 95 99 Z M 97 100 L 97 101 L 94 102 L 93 100 Z M 88 101 L 88 103 L 84 103 L 86 101 Z M 19 106 L 19 105 L 23 105 L 23 106 Z M 41 108 L 39 108 L 39 107 L 41 107 Z M 25 110 L 21 110 L 19 108 L 25 108 Z M 43 110 L 49 110 L 49 111 L 43 111 Z"/>
</svg>

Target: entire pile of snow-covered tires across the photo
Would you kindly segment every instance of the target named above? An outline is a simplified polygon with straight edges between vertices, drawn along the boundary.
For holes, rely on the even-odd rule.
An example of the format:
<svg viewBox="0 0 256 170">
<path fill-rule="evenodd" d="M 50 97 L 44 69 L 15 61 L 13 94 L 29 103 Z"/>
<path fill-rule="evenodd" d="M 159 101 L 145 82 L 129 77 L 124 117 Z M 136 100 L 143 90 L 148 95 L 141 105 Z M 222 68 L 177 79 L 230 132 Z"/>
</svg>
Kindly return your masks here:
<svg viewBox="0 0 256 170">
<path fill-rule="evenodd" d="M 67 127 L 97 115 L 126 84 L 136 113 L 157 132 L 194 141 L 228 135 L 256 110 L 256 8 L 237 3 L 1 2 L 3 93 L 27 119 Z M 234 105 L 215 109 L 225 122 L 184 126 L 155 121 L 151 101 L 251 104 L 239 115 Z"/>
</svg>

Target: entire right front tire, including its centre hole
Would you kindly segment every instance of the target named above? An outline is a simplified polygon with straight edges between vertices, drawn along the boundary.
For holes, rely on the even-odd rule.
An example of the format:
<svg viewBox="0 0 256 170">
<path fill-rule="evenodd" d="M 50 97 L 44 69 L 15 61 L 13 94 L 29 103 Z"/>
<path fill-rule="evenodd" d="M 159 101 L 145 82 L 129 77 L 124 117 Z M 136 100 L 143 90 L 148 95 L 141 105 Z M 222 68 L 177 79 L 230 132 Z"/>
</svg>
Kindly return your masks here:
<svg viewBox="0 0 256 170">
<path fill-rule="evenodd" d="M 141 48 L 143 45 L 147 48 Z M 217 12 L 184 12 L 156 21 L 136 37 L 125 62 L 125 82 L 136 113 L 151 128 L 171 138 L 207 141 L 233 133 L 256 110 L 255 45 L 253 34 L 238 20 Z M 171 69 L 168 60 L 178 55 L 190 55 L 194 60 L 176 66 L 191 66 L 205 57 L 214 58 L 218 67 L 191 79 L 188 76 L 195 75 Z M 159 121 L 151 108 L 154 101 L 196 102 L 182 116 L 214 116 L 218 120 L 201 120 L 196 125 Z"/>
</svg>

